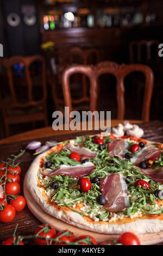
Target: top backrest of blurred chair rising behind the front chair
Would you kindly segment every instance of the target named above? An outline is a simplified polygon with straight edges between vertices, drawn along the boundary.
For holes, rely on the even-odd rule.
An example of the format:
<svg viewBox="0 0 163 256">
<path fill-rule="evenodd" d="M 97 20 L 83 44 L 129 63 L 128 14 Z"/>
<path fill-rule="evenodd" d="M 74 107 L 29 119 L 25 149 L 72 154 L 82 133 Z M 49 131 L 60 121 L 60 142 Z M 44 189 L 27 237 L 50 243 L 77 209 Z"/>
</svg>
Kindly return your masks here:
<svg viewBox="0 0 163 256">
<path fill-rule="evenodd" d="M 98 63 L 99 52 L 98 50 L 96 50 L 96 48 L 82 49 L 80 47 L 72 47 L 69 50 L 64 51 L 64 54 L 62 54 L 62 65 L 64 66 L 64 68 L 67 68 L 67 66 L 74 64 L 74 57 L 78 57 L 78 60 L 80 59 L 80 64 L 86 65 L 88 64 L 89 57 L 92 56 L 96 57 L 96 63 Z"/>
</svg>

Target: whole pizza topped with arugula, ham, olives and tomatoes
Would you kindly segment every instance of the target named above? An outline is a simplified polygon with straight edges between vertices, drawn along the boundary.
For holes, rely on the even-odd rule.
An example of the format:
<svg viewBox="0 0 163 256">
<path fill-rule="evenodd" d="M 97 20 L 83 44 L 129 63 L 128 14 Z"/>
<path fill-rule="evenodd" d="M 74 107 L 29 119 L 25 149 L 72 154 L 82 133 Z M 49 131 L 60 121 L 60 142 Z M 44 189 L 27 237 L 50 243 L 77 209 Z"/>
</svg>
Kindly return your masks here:
<svg viewBox="0 0 163 256">
<path fill-rule="evenodd" d="M 163 230 L 163 145 L 112 133 L 60 142 L 24 180 L 47 214 L 103 234 Z"/>
</svg>

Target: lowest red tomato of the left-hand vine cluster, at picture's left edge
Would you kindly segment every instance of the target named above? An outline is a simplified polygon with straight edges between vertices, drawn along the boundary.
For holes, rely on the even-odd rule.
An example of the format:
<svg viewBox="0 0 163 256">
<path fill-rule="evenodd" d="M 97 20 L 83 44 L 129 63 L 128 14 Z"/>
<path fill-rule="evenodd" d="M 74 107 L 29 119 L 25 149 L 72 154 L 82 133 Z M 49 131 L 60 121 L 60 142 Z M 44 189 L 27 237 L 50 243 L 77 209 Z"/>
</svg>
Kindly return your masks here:
<svg viewBox="0 0 163 256">
<path fill-rule="evenodd" d="M 5 206 L 4 210 L 0 211 L 0 221 L 8 223 L 15 218 L 15 208 L 14 206 L 8 204 Z"/>
</svg>

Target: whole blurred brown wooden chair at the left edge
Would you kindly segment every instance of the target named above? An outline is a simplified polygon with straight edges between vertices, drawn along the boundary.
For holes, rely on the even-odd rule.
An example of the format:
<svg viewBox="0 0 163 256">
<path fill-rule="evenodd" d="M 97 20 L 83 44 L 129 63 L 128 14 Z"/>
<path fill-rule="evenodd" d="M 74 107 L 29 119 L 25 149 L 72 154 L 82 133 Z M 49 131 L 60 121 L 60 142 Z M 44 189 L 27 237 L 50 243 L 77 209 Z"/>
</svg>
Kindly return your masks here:
<svg viewBox="0 0 163 256">
<path fill-rule="evenodd" d="M 39 62 L 42 66 L 41 84 L 39 84 L 39 91 L 42 89 L 42 95 L 39 100 L 33 98 L 33 81 L 35 77 L 32 77 L 30 73 L 30 65 L 34 62 Z M 17 86 L 17 84 L 14 82 L 15 77 L 13 74 L 13 65 L 15 63 L 24 64 L 23 80 L 25 83 L 23 82 L 22 87 L 23 90 L 25 90 L 25 88 L 27 89 L 26 100 L 24 101 L 20 101 L 20 99 L 18 99 L 18 95 L 16 92 L 16 87 L 18 87 L 18 90 L 22 88 L 20 87 L 20 84 Z M 7 71 L 8 83 L 5 86 L 8 86 L 8 92 L 10 94 L 10 98 L 8 99 L 8 101 L 5 101 L 5 96 L 2 96 L 3 92 L 0 89 L 0 108 L 3 114 L 6 136 L 9 136 L 9 125 L 13 124 L 35 123 L 36 121 L 44 121 L 45 125 L 47 126 L 47 90 L 44 59 L 41 56 L 15 56 L 9 59 L 1 58 L 0 65 Z M 17 80 L 18 78 L 16 78 L 16 81 Z"/>
</svg>

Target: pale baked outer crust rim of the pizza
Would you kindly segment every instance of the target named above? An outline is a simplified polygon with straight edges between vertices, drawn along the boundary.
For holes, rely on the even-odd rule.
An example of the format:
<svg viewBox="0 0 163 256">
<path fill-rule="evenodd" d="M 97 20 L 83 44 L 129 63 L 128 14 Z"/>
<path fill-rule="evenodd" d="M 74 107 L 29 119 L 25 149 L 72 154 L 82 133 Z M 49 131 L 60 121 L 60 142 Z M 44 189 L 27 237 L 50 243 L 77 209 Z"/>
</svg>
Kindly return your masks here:
<svg viewBox="0 0 163 256">
<path fill-rule="evenodd" d="M 74 140 L 70 142 L 73 143 Z M 130 217 L 124 217 L 121 220 L 117 220 L 111 223 L 107 221 L 96 222 L 93 221 L 90 217 L 82 216 L 77 212 L 67 208 L 66 206 L 63 206 L 62 209 L 64 210 L 62 210 L 59 208 L 59 206 L 51 203 L 43 188 L 39 187 L 40 181 L 37 178 L 37 172 L 40 169 L 40 163 L 43 157 L 52 151 L 58 151 L 63 147 L 63 145 L 64 144 L 60 144 L 51 150 L 37 156 L 30 165 L 24 179 L 28 191 L 43 211 L 53 216 L 54 218 L 58 218 L 59 220 L 72 224 L 78 228 L 103 234 L 121 234 L 126 231 L 130 231 L 135 234 L 143 234 L 163 231 L 163 214 L 143 214 L 142 217 L 136 217 L 133 219 Z"/>
</svg>

